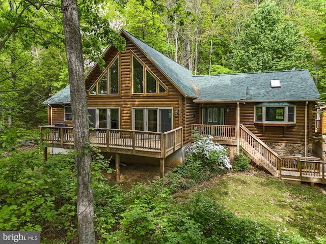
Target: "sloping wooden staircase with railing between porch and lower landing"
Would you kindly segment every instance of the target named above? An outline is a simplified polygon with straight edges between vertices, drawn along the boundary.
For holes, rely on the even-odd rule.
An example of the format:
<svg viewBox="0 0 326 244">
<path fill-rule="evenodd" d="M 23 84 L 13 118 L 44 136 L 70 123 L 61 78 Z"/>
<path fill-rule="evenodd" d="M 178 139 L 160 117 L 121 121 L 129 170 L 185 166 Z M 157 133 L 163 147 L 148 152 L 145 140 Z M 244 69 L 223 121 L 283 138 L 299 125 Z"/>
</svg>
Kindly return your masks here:
<svg viewBox="0 0 326 244">
<path fill-rule="evenodd" d="M 263 166 L 275 177 L 280 177 L 280 156 L 255 134 L 240 125 L 239 143 L 244 153 L 256 164 Z"/>
</svg>

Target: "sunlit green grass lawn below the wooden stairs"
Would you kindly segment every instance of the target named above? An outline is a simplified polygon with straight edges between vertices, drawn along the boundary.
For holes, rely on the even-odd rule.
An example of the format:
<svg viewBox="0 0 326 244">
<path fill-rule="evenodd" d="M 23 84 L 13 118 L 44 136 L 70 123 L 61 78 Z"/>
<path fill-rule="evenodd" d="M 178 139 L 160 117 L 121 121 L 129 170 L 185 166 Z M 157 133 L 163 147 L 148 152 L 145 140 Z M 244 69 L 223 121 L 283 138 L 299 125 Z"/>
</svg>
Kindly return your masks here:
<svg viewBox="0 0 326 244">
<path fill-rule="evenodd" d="M 315 240 L 326 243 L 326 191 L 320 188 L 292 185 L 252 169 L 245 173 L 226 174 L 193 191 L 201 191 L 237 217 L 301 236 L 305 243 Z M 181 193 L 176 200 L 182 201 L 191 194 Z"/>
</svg>

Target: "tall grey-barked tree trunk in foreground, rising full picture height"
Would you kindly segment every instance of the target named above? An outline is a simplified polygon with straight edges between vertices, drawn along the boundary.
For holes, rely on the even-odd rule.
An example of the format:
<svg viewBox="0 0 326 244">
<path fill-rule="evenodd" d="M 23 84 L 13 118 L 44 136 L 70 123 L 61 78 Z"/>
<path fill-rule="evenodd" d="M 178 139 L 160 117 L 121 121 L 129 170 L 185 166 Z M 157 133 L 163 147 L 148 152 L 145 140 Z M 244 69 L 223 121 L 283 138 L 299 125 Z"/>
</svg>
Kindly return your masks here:
<svg viewBox="0 0 326 244">
<path fill-rule="evenodd" d="M 79 244 L 95 244 L 94 199 L 91 187 L 91 153 L 84 78 L 82 39 L 76 0 L 62 0 L 63 25 L 73 114 L 73 136 L 77 165 L 77 214 Z"/>
</svg>

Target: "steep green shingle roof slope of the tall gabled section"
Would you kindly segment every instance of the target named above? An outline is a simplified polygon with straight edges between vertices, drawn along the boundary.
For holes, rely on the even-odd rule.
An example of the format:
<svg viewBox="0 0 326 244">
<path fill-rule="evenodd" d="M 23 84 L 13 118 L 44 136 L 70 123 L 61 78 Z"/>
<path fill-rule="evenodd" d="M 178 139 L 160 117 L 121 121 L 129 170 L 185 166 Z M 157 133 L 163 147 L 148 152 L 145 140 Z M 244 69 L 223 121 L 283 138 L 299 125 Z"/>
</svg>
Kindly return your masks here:
<svg viewBox="0 0 326 244">
<path fill-rule="evenodd" d="M 163 72 L 176 87 L 179 88 L 180 92 L 182 92 L 184 96 L 193 98 L 197 97 L 196 90 L 190 82 L 193 74 L 189 70 L 138 38 L 132 36 L 127 31 L 123 30 L 122 33 L 124 33 L 135 45 L 141 49 L 141 51 L 144 52 L 145 55 L 147 55 L 153 64 L 156 65 L 156 67 L 160 69 L 160 71 Z"/>
</svg>

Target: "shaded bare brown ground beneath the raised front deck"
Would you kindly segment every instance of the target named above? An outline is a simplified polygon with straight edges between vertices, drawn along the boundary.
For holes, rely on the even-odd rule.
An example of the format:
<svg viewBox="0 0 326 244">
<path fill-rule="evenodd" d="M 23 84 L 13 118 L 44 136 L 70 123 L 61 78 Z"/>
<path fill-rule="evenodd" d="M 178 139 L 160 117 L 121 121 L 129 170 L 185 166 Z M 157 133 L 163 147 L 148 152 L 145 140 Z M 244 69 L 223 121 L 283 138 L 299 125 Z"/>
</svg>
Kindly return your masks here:
<svg viewBox="0 0 326 244">
<path fill-rule="evenodd" d="M 125 166 L 124 166 L 125 165 Z M 115 164 L 110 164 L 115 169 Z M 165 167 L 164 172 L 167 176 L 172 167 Z M 123 163 L 120 164 L 120 181 L 116 182 L 116 171 L 108 174 L 104 173 L 110 184 L 133 184 L 138 182 L 147 182 L 148 180 L 159 179 L 159 165 Z"/>
</svg>

